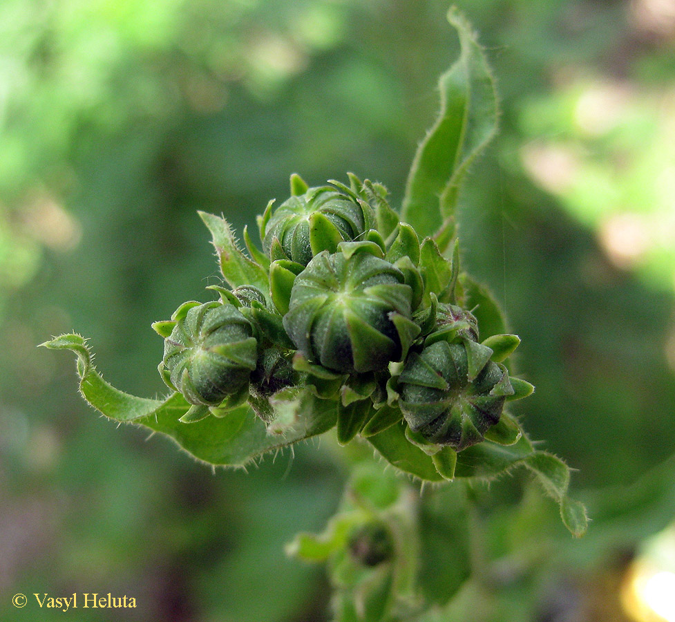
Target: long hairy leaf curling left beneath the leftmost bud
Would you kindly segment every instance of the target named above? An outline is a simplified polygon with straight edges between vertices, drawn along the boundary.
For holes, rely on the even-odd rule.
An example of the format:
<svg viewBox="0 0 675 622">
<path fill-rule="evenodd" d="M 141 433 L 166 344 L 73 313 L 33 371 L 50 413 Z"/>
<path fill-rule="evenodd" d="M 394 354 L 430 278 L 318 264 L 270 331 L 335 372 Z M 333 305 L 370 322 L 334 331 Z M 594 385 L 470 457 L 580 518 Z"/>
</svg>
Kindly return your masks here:
<svg viewBox="0 0 675 622">
<path fill-rule="evenodd" d="M 297 405 L 296 421 L 282 434 L 269 434 L 248 406 L 235 408 L 225 417 L 206 417 L 184 424 L 179 418 L 189 411 L 191 404 L 180 393 L 173 393 L 162 401 L 135 397 L 111 386 L 91 364 L 85 340 L 78 334 L 61 335 L 41 345 L 75 352 L 82 395 L 103 415 L 161 432 L 195 458 L 210 464 L 243 466 L 268 451 L 321 434 L 336 422 L 335 404 L 307 392 Z"/>
</svg>

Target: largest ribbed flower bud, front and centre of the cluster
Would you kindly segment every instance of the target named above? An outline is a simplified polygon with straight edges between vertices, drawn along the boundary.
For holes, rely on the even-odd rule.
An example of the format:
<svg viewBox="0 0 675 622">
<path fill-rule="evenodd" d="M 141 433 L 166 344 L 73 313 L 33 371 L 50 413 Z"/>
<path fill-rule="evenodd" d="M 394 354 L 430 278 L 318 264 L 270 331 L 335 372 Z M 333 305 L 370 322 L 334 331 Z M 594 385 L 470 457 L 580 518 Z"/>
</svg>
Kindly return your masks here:
<svg viewBox="0 0 675 622">
<path fill-rule="evenodd" d="M 386 368 L 405 357 L 419 327 L 412 289 L 371 242 L 318 254 L 291 290 L 283 325 L 307 359 L 341 373 Z"/>
</svg>

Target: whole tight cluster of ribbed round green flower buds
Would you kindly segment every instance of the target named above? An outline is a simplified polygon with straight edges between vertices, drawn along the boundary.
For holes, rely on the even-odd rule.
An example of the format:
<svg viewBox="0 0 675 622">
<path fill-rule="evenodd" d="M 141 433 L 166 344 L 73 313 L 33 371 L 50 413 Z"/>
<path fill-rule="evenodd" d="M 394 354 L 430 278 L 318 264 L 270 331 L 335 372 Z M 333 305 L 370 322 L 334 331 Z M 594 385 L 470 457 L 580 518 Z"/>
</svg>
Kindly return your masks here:
<svg viewBox="0 0 675 622">
<path fill-rule="evenodd" d="M 504 404 L 532 388 L 503 361 L 520 340 L 479 341 L 457 246 L 447 258 L 420 241 L 379 184 L 330 183 L 294 175 L 292 196 L 258 217 L 264 254 L 249 245 L 246 261 L 265 271 L 267 291 L 213 287 L 220 301 L 184 303 L 153 325 L 165 338 L 162 378 L 193 405 L 182 420 L 248 401 L 269 423 L 274 396 L 294 387 L 334 404 L 341 443 L 405 422 L 432 454 L 517 431 Z"/>
</svg>

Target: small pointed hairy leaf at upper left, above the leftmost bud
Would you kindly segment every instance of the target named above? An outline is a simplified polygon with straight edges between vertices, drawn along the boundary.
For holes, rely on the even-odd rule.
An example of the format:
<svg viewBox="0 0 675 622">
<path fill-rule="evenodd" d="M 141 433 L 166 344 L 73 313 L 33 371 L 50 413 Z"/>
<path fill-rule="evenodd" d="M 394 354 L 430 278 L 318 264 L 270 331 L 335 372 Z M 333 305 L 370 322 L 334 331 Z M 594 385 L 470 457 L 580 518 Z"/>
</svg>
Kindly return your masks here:
<svg viewBox="0 0 675 622">
<path fill-rule="evenodd" d="M 261 292 L 269 290 L 267 272 L 247 257 L 239 248 L 229 223 L 225 218 L 198 212 L 205 225 L 209 227 L 213 246 L 220 261 L 220 272 L 231 288 L 239 285 L 253 285 Z"/>
</svg>

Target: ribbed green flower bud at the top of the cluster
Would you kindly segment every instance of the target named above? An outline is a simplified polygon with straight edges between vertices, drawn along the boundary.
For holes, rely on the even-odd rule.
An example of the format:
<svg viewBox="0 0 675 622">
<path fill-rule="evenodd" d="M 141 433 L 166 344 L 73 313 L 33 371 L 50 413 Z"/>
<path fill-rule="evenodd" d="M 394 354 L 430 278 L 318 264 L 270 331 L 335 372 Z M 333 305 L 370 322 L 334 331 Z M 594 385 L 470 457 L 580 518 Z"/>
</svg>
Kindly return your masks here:
<svg viewBox="0 0 675 622">
<path fill-rule="evenodd" d="M 354 194 L 332 186 L 310 188 L 274 210 L 265 223 L 263 249 L 269 256 L 276 238 L 286 258 L 307 265 L 319 252 L 334 252 L 342 241 L 362 236 L 373 223 L 372 208 Z"/>
</svg>

